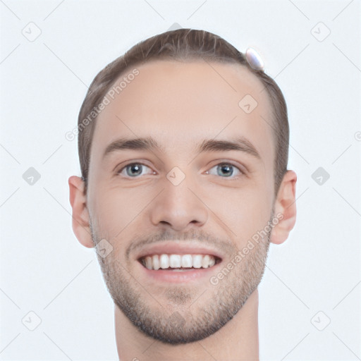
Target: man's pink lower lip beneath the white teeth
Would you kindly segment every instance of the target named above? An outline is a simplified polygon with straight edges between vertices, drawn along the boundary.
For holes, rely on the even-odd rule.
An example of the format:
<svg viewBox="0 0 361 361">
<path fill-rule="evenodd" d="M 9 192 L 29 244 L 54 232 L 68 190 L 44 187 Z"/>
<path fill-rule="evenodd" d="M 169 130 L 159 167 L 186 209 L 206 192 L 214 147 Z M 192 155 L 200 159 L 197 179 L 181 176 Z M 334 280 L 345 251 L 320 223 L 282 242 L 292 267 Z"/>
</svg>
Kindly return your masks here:
<svg viewBox="0 0 361 361">
<path fill-rule="evenodd" d="M 158 269 L 156 271 L 155 269 L 147 269 L 142 264 L 140 264 L 140 267 L 145 272 L 145 276 L 150 277 L 155 281 L 185 283 L 197 280 L 204 281 L 205 278 L 210 278 L 216 273 L 220 264 L 221 262 L 214 264 L 214 266 L 209 268 L 191 269 L 189 271 L 168 271 L 166 269 Z"/>
</svg>

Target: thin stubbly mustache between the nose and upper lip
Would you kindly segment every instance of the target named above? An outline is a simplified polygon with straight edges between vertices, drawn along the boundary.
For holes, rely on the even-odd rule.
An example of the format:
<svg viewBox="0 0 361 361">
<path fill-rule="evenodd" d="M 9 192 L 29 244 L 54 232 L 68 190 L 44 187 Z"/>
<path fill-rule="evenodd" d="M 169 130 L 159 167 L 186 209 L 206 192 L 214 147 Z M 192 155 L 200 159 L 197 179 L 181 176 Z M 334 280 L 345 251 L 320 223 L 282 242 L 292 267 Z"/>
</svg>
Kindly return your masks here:
<svg viewBox="0 0 361 361">
<path fill-rule="evenodd" d="M 185 233 L 174 233 L 170 231 L 163 231 L 161 233 L 154 233 L 152 235 L 137 236 L 135 237 L 130 245 L 126 249 L 126 259 L 129 259 L 130 253 L 135 252 L 136 250 L 141 250 L 142 247 L 146 245 L 151 245 L 152 243 L 166 242 L 169 240 L 184 240 L 190 243 L 197 243 L 197 245 L 212 245 L 218 250 L 222 250 L 228 255 L 233 255 L 237 252 L 238 248 L 232 242 L 232 240 L 223 240 L 204 231 L 194 230 L 185 232 Z"/>
</svg>

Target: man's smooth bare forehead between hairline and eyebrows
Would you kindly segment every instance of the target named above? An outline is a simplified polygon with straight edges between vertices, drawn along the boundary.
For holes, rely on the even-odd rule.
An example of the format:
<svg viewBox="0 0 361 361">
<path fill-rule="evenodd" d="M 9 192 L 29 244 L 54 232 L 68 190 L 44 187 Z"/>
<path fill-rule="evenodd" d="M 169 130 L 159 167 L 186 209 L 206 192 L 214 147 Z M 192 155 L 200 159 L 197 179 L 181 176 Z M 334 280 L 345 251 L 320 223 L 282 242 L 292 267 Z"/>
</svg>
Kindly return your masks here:
<svg viewBox="0 0 361 361">
<path fill-rule="evenodd" d="M 271 103 L 247 68 L 209 61 L 151 61 L 135 68 L 119 76 L 106 95 L 109 104 L 92 140 L 93 161 L 101 161 L 104 149 L 121 137 L 153 137 L 167 154 L 176 154 L 192 152 L 206 138 L 242 136 L 272 166 Z"/>
</svg>

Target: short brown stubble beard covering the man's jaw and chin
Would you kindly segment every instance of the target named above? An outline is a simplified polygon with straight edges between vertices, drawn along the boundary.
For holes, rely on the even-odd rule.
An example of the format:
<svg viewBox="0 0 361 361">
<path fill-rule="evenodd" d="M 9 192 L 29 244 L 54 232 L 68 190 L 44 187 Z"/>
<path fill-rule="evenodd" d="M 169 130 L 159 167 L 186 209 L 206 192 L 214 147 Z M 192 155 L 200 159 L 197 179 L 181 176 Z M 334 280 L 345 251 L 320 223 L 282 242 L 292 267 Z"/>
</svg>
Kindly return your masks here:
<svg viewBox="0 0 361 361">
<path fill-rule="evenodd" d="M 97 229 L 91 230 L 96 245 L 103 238 Z M 243 307 L 262 280 L 270 235 L 271 231 L 216 286 L 207 279 L 203 289 L 182 284 L 154 294 L 114 257 L 115 252 L 104 258 L 97 253 L 97 258 L 111 298 L 130 322 L 150 338 L 178 345 L 211 336 Z M 238 252 L 234 249 L 233 258 Z M 226 267 L 229 261 L 224 261 Z"/>
</svg>

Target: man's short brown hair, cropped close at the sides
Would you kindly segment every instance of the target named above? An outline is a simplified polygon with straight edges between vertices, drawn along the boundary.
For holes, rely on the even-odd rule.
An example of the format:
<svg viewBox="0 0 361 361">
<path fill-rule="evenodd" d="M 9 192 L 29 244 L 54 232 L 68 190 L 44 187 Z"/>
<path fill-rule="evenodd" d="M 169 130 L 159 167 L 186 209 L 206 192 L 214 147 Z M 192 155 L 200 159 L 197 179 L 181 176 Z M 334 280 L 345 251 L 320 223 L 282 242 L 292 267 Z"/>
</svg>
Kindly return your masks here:
<svg viewBox="0 0 361 361">
<path fill-rule="evenodd" d="M 276 143 L 276 157 L 274 159 L 274 192 L 279 191 L 279 186 L 287 171 L 289 126 L 286 102 L 276 82 L 264 73 L 254 70 L 245 55 L 235 49 L 225 39 L 205 30 L 178 29 L 163 32 L 154 37 L 149 37 L 135 44 L 109 63 L 92 81 L 80 108 L 78 117 L 78 151 L 82 180 L 87 189 L 87 176 L 90 166 L 90 150 L 92 136 L 97 120 L 98 104 L 102 102 L 114 81 L 130 67 L 147 63 L 152 60 L 175 61 L 215 61 L 220 63 L 238 63 L 247 67 L 267 90 L 273 106 L 272 121 L 268 122 L 273 129 Z M 92 114 L 92 118 L 90 117 Z M 87 120 L 85 122 L 85 120 Z M 264 121 L 267 121 L 264 119 Z M 85 126 L 86 125 L 86 126 Z"/>
</svg>

